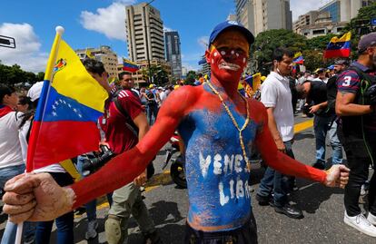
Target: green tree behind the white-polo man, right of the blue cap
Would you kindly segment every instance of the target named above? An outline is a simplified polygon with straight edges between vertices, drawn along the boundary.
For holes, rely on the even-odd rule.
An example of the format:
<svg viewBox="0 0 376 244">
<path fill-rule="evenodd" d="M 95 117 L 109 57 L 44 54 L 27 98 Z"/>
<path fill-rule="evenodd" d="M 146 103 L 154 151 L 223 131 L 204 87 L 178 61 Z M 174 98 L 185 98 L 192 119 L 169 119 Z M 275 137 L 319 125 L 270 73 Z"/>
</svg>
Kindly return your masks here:
<svg viewBox="0 0 376 244">
<path fill-rule="evenodd" d="M 272 62 L 274 49 L 286 47 L 292 52 L 298 52 L 305 50 L 306 46 L 306 37 L 301 34 L 284 29 L 269 30 L 257 35 L 251 48 L 251 58 L 257 60 L 257 70 L 269 73 L 268 63 Z"/>
</svg>

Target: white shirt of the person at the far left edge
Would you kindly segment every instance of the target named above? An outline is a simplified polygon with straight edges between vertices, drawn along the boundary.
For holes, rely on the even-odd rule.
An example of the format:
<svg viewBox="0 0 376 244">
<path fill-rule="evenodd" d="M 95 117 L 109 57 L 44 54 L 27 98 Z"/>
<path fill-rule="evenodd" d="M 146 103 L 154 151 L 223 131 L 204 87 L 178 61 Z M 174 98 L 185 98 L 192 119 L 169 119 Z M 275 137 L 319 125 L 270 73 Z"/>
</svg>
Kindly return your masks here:
<svg viewBox="0 0 376 244">
<path fill-rule="evenodd" d="M 18 140 L 22 112 L 9 112 L 0 118 L 0 169 L 24 163 Z"/>
</svg>

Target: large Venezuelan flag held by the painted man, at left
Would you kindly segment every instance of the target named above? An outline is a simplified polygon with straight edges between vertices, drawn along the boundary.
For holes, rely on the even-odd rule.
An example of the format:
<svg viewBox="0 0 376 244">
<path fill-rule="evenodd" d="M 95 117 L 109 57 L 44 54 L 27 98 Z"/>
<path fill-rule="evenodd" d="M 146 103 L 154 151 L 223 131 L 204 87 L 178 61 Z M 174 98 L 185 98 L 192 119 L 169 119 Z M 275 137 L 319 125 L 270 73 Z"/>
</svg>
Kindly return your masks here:
<svg viewBox="0 0 376 244">
<path fill-rule="evenodd" d="M 54 62 L 53 53 L 50 61 Z M 100 142 L 96 122 L 104 112 L 107 92 L 63 40 L 58 44 L 56 60 L 51 82 L 47 80 L 47 64 L 30 134 L 27 171 L 96 151 Z"/>
</svg>

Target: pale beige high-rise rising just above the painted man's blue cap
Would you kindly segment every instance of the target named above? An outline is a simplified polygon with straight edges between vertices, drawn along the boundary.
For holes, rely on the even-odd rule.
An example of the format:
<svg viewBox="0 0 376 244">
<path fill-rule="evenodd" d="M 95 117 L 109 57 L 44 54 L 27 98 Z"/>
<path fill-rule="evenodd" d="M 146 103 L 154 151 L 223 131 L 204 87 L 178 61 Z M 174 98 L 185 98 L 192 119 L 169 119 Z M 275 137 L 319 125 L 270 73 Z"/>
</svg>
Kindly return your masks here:
<svg viewBox="0 0 376 244">
<path fill-rule="evenodd" d="M 272 29 L 292 30 L 290 0 L 235 0 L 238 22 L 252 34 Z"/>
</svg>

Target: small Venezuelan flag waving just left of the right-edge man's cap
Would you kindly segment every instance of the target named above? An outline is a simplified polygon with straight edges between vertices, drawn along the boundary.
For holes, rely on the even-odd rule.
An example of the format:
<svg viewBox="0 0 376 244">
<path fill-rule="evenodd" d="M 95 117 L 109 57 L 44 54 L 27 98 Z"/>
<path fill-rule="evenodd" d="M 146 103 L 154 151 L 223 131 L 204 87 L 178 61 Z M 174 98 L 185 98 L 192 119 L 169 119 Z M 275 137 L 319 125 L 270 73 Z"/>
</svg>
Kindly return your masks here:
<svg viewBox="0 0 376 244">
<path fill-rule="evenodd" d="M 349 57 L 351 52 L 351 32 L 343 34 L 341 38 L 334 36 L 326 47 L 324 58 Z"/>
</svg>

